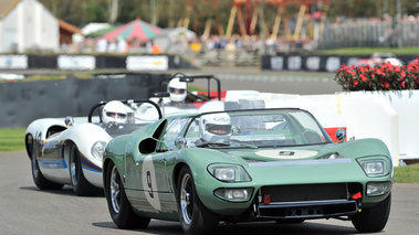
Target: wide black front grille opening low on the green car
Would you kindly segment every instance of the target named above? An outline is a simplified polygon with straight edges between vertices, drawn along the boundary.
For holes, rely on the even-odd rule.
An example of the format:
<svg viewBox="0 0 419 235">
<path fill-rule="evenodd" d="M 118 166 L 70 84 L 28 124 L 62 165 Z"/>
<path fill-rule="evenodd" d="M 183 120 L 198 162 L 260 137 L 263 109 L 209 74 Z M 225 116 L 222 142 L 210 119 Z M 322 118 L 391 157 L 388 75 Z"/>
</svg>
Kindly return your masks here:
<svg viewBox="0 0 419 235">
<path fill-rule="evenodd" d="M 259 218 L 321 218 L 352 215 L 358 202 L 350 195 L 362 186 L 347 183 L 262 186 L 255 202 Z"/>
</svg>

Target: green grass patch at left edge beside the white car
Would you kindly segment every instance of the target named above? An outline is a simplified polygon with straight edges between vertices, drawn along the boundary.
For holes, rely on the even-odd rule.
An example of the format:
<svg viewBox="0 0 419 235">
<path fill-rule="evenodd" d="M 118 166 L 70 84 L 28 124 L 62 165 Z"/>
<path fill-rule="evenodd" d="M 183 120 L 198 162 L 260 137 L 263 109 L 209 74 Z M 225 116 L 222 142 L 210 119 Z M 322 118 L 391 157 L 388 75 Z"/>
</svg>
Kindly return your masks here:
<svg viewBox="0 0 419 235">
<path fill-rule="evenodd" d="M 24 150 L 24 132 L 27 128 L 1 128 L 0 129 L 0 151 Z"/>
</svg>

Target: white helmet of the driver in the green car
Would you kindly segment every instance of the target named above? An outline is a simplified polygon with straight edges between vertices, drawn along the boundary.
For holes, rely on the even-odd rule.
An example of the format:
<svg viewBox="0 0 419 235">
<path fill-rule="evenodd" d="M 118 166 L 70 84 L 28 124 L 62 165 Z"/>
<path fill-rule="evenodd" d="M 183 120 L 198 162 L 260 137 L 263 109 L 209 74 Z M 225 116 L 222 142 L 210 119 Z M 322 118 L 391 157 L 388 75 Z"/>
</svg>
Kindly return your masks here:
<svg viewBox="0 0 419 235">
<path fill-rule="evenodd" d="M 227 114 L 203 115 L 199 121 L 201 139 L 208 142 L 229 140 L 231 136 L 230 116 Z"/>
</svg>

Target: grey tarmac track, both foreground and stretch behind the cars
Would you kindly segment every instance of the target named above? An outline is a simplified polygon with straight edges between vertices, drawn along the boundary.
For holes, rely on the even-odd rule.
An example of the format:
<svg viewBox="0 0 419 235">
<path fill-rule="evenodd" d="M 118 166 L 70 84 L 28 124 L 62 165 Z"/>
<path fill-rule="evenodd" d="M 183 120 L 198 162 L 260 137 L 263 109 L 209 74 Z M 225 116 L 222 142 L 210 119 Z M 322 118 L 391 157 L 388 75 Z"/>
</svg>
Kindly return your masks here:
<svg viewBox="0 0 419 235">
<path fill-rule="evenodd" d="M 205 67 L 181 72 L 188 75 L 216 75 L 221 79 L 223 90 L 253 89 L 300 95 L 342 92 L 331 73 L 261 72 L 256 67 Z M 395 184 L 387 226 L 383 232 L 371 234 L 417 234 L 418 231 L 419 184 Z M 118 229 L 103 196 L 80 197 L 70 186 L 60 191 L 40 191 L 32 181 L 30 160 L 24 151 L 0 152 L 0 234 L 85 233 L 182 234 L 182 229 L 177 222 L 156 220 L 146 229 Z M 264 222 L 220 225 L 217 234 L 357 234 L 357 231 L 348 221 L 315 220 L 301 224 Z"/>
</svg>

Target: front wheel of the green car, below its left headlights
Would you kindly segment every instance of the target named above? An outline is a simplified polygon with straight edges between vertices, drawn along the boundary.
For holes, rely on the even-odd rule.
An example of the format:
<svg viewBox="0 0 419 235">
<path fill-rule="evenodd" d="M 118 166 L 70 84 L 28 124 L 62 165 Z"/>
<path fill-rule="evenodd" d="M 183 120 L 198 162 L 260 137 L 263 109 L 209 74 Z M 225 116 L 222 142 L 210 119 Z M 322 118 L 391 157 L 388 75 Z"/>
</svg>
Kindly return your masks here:
<svg viewBox="0 0 419 235">
<path fill-rule="evenodd" d="M 213 234 L 219 224 L 219 215 L 202 204 L 195 189 L 192 173 L 186 165 L 180 170 L 176 195 L 185 234 Z"/>
</svg>

